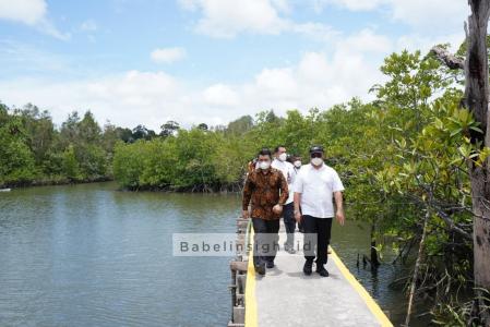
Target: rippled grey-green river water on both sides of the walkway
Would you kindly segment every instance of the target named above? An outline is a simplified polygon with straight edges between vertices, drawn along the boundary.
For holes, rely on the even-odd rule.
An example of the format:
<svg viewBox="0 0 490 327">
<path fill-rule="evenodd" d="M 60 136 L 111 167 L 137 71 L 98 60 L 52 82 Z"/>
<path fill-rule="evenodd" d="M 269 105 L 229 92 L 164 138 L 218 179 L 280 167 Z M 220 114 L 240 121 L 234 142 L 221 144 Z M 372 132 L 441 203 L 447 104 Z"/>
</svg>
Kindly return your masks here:
<svg viewBox="0 0 490 327">
<path fill-rule="evenodd" d="M 239 214 L 237 194 L 115 183 L 0 193 L 0 326 L 226 326 L 230 257 L 172 256 L 171 242 L 175 232 L 232 233 Z M 356 267 L 369 241 L 368 229 L 334 223 L 332 245 L 399 322 L 394 269 Z"/>
</svg>

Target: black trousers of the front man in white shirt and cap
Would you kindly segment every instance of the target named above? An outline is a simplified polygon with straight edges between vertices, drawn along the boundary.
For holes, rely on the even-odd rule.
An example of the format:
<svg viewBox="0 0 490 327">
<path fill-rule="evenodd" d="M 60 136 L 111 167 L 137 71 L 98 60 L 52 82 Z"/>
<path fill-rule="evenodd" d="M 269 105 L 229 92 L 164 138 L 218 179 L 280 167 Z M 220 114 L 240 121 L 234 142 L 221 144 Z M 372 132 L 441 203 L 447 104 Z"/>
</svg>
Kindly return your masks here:
<svg viewBox="0 0 490 327">
<path fill-rule="evenodd" d="M 304 246 L 311 246 L 311 251 L 304 250 L 304 258 L 312 262 L 316 254 L 316 266 L 325 265 L 327 262 L 327 251 L 332 234 L 332 218 L 315 218 L 302 216 L 302 227 L 304 229 Z M 314 253 L 313 251 L 316 250 Z"/>
</svg>

